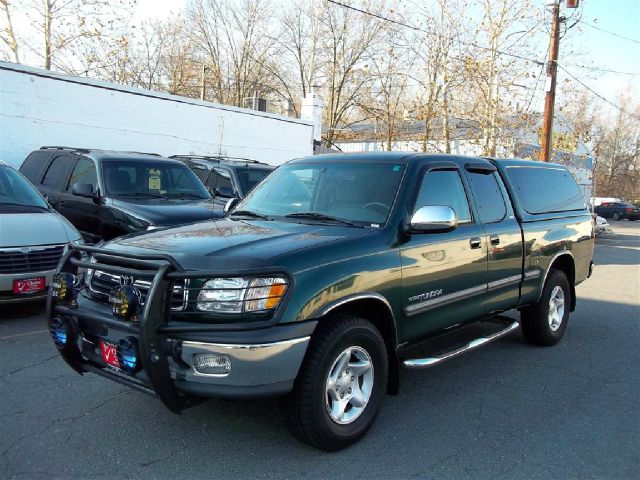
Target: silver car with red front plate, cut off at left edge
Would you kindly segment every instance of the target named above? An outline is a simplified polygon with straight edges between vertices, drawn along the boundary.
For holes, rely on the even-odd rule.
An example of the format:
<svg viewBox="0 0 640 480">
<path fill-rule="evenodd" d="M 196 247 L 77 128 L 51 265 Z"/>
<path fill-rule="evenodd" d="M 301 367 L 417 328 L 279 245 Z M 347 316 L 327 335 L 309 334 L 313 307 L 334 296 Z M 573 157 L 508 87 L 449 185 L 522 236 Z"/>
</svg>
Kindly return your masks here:
<svg viewBox="0 0 640 480">
<path fill-rule="evenodd" d="M 46 298 L 80 233 L 16 170 L 0 162 L 0 305 Z"/>
</svg>

